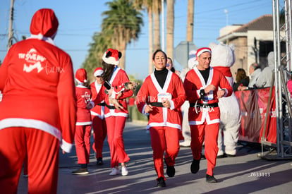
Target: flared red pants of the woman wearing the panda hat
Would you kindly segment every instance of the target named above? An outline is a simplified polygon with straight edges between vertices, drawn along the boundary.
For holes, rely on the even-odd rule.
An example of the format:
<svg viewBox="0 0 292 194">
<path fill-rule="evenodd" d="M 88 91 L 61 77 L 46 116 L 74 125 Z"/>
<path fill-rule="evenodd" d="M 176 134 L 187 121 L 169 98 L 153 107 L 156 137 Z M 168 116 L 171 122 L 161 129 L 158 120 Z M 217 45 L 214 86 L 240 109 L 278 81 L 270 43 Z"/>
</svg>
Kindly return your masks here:
<svg viewBox="0 0 292 194">
<path fill-rule="evenodd" d="M 118 166 L 118 163 L 130 160 L 123 145 L 123 128 L 125 128 L 126 119 L 124 116 L 109 116 L 106 118 L 107 141 L 111 150 L 111 168 Z"/>
</svg>

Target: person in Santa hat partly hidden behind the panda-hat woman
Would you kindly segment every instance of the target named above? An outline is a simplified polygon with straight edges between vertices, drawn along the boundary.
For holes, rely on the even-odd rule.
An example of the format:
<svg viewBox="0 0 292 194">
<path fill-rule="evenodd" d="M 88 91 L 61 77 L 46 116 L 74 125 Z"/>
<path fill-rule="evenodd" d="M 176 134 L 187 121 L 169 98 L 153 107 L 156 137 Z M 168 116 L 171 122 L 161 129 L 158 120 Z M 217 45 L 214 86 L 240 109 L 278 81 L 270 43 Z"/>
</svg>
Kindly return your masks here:
<svg viewBox="0 0 292 194">
<path fill-rule="evenodd" d="M 104 73 L 104 69 L 101 67 L 96 68 L 93 73 L 95 76 L 95 82 L 90 84 L 92 99 L 95 99 L 97 95 L 102 95 L 101 93 L 105 90 L 105 87 L 102 85 L 104 83 L 102 73 Z M 102 161 L 102 148 L 104 147 L 104 139 L 107 137 L 107 123 L 104 119 L 104 105 L 105 103 L 103 100 L 90 110 L 94 138 L 92 148 L 96 152 L 97 165 L 104 164 Z"/>
</svg>

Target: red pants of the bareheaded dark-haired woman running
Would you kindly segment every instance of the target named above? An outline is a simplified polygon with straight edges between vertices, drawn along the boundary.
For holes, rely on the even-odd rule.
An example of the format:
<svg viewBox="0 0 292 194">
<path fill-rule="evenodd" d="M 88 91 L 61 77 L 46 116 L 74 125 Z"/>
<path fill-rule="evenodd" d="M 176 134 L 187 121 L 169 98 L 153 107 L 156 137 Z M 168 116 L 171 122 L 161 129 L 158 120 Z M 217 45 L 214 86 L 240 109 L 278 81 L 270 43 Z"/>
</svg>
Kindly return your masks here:
<svg viewBox="0 0 292 194">
<path fill-rule="evenodd" d="M 158 178 L 164 176 L 164 158 L 169 166 L 174 166 L 175 159 L 179 152 L 178 142 L 179 131 L 171 127 L 151 127 L 151 146 L 153 150 L 154 167 Z"/>
</svg>

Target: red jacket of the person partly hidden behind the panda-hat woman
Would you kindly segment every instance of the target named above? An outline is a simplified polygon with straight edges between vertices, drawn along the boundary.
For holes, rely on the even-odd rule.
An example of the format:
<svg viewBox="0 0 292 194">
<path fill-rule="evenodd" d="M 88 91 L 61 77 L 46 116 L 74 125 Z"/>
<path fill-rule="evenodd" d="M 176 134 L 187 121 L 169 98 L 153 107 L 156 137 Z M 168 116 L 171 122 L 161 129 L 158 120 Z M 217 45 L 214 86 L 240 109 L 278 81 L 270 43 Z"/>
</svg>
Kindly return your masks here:
<svg viewBox="0 0 292 194">
<path fill-rule="evenodd" d="M 102 93 L 104 93 L 105 87 L 103 85 L 98 85 L 97 81 L 95 81 L 94 83 L 90 84 L 90 90 L 92 93 L 92 99 L 96 99 L 97 95 L 104 95 Z M 100 119 L 104 119 L 104 105 L 101 104 L 104 104 L 104 100 L 102 100 L 102 102 L 99 104 L 95 104 L 95 107 L 90 110 L 90 113 L 91 115 L 98 116 Z"/>
</svg>

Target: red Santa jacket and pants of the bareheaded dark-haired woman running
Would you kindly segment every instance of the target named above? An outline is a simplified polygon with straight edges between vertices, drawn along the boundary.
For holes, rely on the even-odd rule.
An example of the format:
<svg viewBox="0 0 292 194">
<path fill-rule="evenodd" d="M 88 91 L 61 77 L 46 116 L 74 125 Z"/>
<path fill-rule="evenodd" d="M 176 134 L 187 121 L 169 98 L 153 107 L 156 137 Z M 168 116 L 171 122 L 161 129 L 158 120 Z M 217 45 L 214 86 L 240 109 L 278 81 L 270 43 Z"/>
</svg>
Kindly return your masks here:
<svg viewBox="0 0 292 194">
<path fill-rule="evenodd" d="M 167 71 L 167 70 L 166 70 Z M 155 107 L 155 103 L 163 102 L 161 97 L 169 96 L 171 108 Z M 157 82 L 154 73 L 149 75 L 138 92 L 136 105 L 145 114 L 147 104 L 152 104 L 148 126 L 150 128 L 153 149 L 154 167 L 158 178 L 164 176 L 163 154 L 166 152 L 166 163 L 174 166 L 179 151 L 178 131 L 181 130 L 181 105 L 185 102 L 185 90 L 181 78 L 168 71 L 164 87 Z"/>
</svg>

